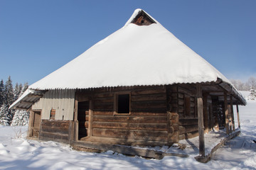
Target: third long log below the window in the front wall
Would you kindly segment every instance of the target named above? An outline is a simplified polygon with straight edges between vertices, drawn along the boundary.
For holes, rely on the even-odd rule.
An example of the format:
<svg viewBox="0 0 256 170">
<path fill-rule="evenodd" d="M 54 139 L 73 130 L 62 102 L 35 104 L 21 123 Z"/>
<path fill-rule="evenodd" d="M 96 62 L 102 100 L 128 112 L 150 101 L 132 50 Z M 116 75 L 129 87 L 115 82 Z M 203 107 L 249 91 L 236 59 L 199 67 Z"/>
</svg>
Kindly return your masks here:
<svg viewBox="0 0 256 170">
<path fill-rule="evenodd" d="M 134 140 L 163 140 L 167 142 L 166 131 L 156 130 L 117 130 L 117 129 L 101 129 L 93 128 L 93 134 L 98 137 L 114 137 L 122 139 Z"/>
</svg>

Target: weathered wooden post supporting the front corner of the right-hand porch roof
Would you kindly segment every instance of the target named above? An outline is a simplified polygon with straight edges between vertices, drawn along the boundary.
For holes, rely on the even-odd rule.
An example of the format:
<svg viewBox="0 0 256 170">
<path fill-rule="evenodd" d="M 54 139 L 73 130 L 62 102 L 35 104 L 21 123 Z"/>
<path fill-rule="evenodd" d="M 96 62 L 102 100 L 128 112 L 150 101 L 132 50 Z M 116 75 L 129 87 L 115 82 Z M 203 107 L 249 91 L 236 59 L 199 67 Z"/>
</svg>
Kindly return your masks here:
<svg viewBox="0 0 256 170">
<path fill-rule="evenodd" d="M 196 84 L 197 89 L 197 107 L 198 107 L 198 132 L 199 132 L 199 154 L 205 157 L 205 141 L 203 127 L 203 98 L 201 84 Z"/>
</svg>

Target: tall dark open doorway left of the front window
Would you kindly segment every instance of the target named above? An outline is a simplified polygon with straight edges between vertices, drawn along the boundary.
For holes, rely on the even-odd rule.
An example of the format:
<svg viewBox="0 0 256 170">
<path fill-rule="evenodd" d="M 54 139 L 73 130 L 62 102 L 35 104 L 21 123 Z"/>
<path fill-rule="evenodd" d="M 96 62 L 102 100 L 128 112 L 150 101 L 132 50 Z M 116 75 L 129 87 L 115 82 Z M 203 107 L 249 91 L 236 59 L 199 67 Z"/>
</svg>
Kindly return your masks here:
<svg viewBox="0 0 256 170">
<path fill-rule="evenodd" d="M 87 137 L 89 101 L 78 102 L 78 140 Z"/>
</svg>

